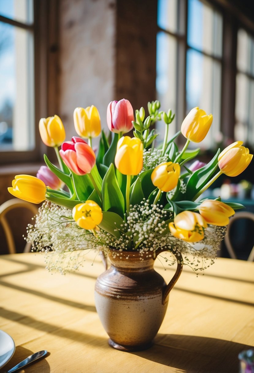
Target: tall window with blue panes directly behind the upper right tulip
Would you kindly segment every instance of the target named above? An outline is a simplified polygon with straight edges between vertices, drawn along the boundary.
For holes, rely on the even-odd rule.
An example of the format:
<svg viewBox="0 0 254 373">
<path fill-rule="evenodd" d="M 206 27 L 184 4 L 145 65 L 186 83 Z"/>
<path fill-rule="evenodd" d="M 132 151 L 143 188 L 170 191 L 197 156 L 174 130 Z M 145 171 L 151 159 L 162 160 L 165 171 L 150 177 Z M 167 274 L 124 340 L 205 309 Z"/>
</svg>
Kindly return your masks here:
<svg viewBox="0 0 254 373">
<path fill-rule="evenodd" d="M 177 113 L 172 134 L 193 107 L 213 114 L 201 147 L 220 131 L 222 26 L 222 15 L 199 0 L 158 0 L 157 97 Z"/>
</svg>

